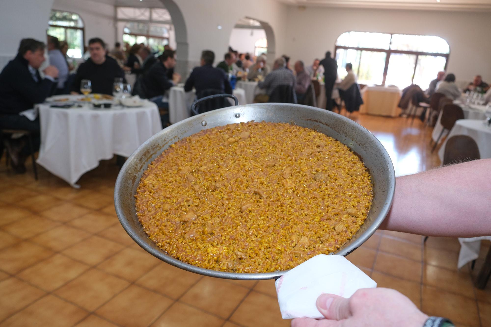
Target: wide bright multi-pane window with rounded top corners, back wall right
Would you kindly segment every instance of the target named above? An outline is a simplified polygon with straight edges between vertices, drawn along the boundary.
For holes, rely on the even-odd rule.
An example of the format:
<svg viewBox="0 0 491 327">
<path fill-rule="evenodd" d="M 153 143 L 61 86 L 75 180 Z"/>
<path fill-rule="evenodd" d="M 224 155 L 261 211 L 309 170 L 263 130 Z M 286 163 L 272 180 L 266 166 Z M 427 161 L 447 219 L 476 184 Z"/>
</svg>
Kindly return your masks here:
<svg viewBox="0 0 491 327">
<path fill-rule="evenodd" d="M 438 36 L 345 32 L 335 51 L 340 77 L 351 62 L 360 84 L 418 84 L 426 89 L 436 73 L 445 70 L 450 47 Z"/>
</svg>

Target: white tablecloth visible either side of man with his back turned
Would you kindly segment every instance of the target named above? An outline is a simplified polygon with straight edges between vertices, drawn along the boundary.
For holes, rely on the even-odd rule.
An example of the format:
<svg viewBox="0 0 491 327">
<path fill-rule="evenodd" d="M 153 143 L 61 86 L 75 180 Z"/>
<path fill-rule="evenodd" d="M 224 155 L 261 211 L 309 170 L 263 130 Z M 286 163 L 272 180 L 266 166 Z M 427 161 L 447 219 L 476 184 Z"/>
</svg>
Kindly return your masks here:
<svg viewBox="0 0 491 327">
<path fill-rule="evenodd" d="M 241 88 L 235 88 L 233 95 L 239 100 L 239 104 L 246 104 L 246 92 Z M 169 122 L 175 124 L 191 117 L 191 104 L 195 98 L 195 91 L 184 92 L 184 87 L 173 86 L 169 91 Z M 232 99 L 230 103 L 235 105 Z"/>
</svg>

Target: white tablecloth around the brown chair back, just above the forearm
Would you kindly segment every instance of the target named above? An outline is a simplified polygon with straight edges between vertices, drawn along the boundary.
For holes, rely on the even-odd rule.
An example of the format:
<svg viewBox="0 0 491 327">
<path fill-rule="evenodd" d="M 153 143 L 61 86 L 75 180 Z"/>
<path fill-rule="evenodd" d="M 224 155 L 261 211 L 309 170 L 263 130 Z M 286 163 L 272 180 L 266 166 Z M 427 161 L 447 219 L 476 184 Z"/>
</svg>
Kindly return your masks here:
<svg viewBox="0 0 491 327">
<path fill-rule="evenodd" d="M 454 127 L 438 151 L 441 162 L 443 162 L 447 140 L 454 135 L 468 135 L 472 137 L 477 143 L 481 159 L 491 158 L 491 127 L 485 126 L 484 120 L 460 119 L 455 122 Z"/>
</svg>

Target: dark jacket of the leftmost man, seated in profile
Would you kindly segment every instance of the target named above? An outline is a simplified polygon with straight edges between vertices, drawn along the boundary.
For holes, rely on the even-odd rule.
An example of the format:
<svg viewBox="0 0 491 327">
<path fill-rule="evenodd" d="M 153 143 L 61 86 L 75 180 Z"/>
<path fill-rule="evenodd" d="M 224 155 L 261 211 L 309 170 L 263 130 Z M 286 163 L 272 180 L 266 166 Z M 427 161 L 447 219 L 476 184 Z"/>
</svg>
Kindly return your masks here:
<svg viewBox="0 0 491 327">
<path fill-rule="evenodd" d="M 20 54 L 3 68 L 0 73 L 0 114 L 17 115 L 31 109 L 35 103 L 42 103 L 51 93 L 53 82 L 41 79 L 36 71 L 36 82 L 32 78 L 28 62 Z"/>
</svg>

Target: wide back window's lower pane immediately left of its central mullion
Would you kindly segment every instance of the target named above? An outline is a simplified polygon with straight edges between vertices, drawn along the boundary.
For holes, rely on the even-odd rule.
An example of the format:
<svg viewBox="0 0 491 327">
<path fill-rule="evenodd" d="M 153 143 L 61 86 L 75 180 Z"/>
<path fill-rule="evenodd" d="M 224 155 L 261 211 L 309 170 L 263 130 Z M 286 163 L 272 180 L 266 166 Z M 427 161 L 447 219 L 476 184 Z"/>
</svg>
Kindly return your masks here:
<svg viewBox="0 0 491 327">
<path fill-rule="evenodd" d="M 361 51 L 358 83 L 382 85 L 385 58 L 385 52 Z M 355 70 L 354 72 L 356 74 Z"/>
</svg>

